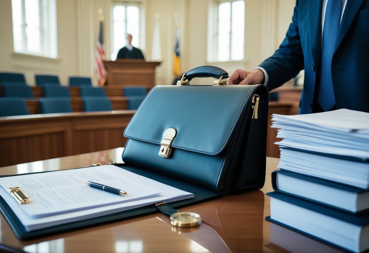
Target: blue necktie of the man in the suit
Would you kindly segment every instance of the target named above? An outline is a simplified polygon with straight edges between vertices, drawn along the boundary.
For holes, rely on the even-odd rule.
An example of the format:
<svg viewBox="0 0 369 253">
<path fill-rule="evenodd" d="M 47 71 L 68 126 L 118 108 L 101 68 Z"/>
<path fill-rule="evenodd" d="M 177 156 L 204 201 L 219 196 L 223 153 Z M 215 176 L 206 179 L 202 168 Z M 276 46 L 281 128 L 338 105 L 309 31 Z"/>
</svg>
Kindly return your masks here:
<svg viewBox="0 0 369 253">
<path fill-rule="evenodd" d="M 318 103 L 324 111 L 335 104 L 332 84 L 332 56 L 341 18 L 342 0 L 328 0 L 323 26 Z"/>
</svg>

